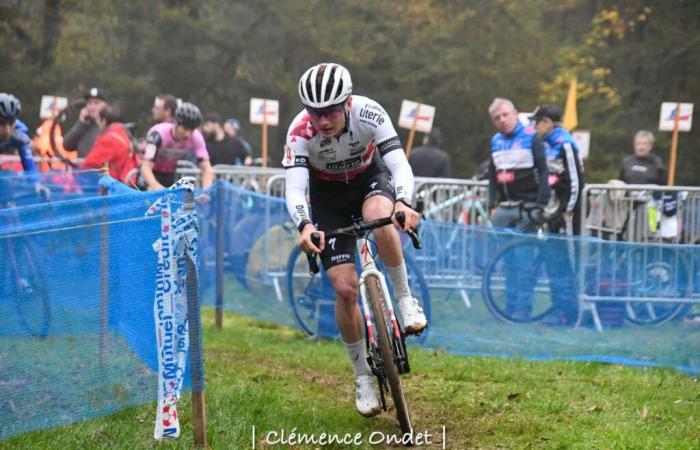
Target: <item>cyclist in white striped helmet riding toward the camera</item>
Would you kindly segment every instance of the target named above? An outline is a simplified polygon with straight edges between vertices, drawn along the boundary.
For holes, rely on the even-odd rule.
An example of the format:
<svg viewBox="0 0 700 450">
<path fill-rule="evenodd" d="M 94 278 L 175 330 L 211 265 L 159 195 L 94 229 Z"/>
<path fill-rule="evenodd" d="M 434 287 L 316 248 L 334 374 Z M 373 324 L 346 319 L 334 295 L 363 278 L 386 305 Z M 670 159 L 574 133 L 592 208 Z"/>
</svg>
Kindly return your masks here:
<svg viewBox="0 0 700 450">
<path fill-rule="evenodd" d="M 403 211 L 403 230 L 418 225 L 411 208 L 413 173 L 389 115 L 378 103 L 352 94 L 348 70 L 334 63 L 308 69 L 299 80 L 304 109 L 292 121 L 285 145 L 286 202 L 305 252 L 321 254 L 336 294 L 336 322 L 355 371 L 355 403 L 360 414 L 371 417 L 380 406 L 362 338 L 362 316 L 357 304 L 355 238 L 325 240 L 323 230 L 347 226 Z M 306 203 L 309 184 L 311 222 Z M 396 219 L 394 225 L 399 226 Z M 321 234 L 320 245 L 311 234 Z M 379 256 L 394 286 L 407 334 L 420 333 L 427 321 L 410 292 L 401 242 L 392 226 L 374 231 Z"/>
</svg>

